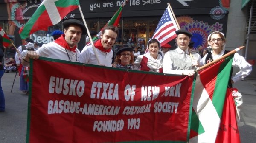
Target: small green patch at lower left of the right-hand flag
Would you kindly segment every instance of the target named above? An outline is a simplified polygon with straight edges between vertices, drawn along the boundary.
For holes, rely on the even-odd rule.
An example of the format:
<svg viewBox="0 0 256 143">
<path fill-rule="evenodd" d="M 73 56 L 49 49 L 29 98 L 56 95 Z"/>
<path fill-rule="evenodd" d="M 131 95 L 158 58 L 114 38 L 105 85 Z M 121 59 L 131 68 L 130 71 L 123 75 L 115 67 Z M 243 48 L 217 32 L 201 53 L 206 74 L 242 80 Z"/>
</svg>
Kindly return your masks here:
<svg viewBox="0 0 256 143">
<path fill-rule="evenodd" d="M 192 115 L 191 115 L 191 120 L 193 121 L 193 123 L 191 123 L 191 129 L 194 130 L 195 132 L 197 132 L 198 134 L 202 134 L 204 133 L 204 127 L 201 124 L 198 115 L 196 114 L 195 111 L 192 111 Z"/>
</svg>

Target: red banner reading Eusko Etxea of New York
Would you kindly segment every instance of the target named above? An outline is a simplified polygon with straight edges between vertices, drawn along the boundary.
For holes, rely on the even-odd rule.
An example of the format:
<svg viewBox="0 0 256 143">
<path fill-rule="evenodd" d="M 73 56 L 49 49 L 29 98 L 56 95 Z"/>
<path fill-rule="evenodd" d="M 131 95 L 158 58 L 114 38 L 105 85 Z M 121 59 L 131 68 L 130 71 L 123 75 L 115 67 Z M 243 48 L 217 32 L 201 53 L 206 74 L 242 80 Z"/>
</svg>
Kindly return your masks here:
<svg viewBox="0 0 256 143">
<path fill-rule="evenodd" d="M 189 141 L 193 77 L 40 57 L 29 84 L 27 143 Z"/>
</svg>

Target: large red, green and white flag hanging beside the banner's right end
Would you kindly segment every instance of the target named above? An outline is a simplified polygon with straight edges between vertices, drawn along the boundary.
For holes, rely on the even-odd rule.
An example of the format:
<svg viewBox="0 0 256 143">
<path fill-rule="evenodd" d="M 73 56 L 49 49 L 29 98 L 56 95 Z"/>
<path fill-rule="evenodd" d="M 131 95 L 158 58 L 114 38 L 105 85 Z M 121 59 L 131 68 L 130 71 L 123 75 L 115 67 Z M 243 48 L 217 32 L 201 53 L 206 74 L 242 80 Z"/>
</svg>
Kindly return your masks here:
<svg viewBox="0 0 256 143">
<path fill-rule="evenodd" d="M 189 143 L 240 143 L 230 89 L 233 56 L 198 72 Z"/>
</svg>

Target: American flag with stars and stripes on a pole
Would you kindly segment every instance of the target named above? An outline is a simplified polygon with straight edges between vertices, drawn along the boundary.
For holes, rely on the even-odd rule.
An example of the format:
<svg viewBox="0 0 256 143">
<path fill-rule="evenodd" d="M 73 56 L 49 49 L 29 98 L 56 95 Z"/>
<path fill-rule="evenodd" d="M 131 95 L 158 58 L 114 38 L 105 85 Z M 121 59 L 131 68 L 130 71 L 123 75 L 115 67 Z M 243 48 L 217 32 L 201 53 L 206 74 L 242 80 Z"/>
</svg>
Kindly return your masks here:
<svg viewBox="0 0 256 143">
<path fill-rule="evenodd" d="M 176 30 L 179 30 L 179 28 L 172 16 L 171 9 L 169 6 L 167 6 L 166 11 L 164 11 L 152 38 L 159 40 L 160 45 L 165 45 L 166 43 L 172 41 L 172 39 L 176 38 Z M 148 49 L 145 51 L 145 53 L 148 53 Z"/>
</svg>

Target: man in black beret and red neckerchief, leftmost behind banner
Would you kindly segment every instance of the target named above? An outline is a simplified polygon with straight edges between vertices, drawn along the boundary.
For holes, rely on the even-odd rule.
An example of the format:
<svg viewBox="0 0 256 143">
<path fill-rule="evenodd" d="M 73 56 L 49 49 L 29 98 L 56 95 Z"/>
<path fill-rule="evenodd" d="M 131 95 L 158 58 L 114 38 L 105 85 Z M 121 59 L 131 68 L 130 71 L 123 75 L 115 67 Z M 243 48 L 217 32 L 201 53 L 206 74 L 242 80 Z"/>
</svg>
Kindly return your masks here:
<svg viewBox="0 0 256 143">
<path fill-rule="evenodd" d="M 80 51 L 76 48 L 81 39 L 81 35 L 87 34 L 87 30 L 82 22 L 76 19 L 69 19 L 62 23 L 64 34 L 54 42 L 42 45 L 37 51 L 29 51 L 21 63 L 29 66 L 29 59 L 38 59 L 39 56 L 78 62 Z"/>
</svg>

